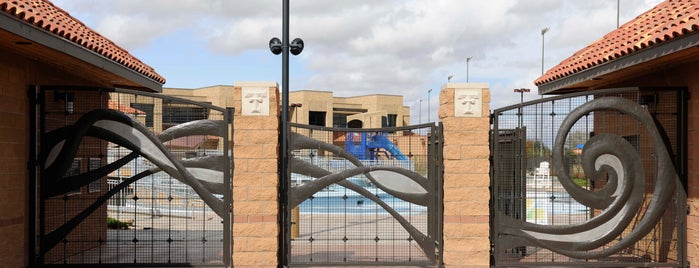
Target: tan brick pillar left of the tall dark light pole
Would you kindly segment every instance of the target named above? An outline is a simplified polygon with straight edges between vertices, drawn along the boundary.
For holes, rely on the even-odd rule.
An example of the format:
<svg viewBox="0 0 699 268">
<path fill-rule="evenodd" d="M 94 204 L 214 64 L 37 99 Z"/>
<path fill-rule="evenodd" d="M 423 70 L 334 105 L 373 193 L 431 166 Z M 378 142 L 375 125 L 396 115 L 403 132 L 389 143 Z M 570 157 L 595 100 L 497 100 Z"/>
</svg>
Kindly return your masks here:
<svg viewBox="0 0 699 268">
<path fill-rule="evenodd" d="M 236 82 L 234 91 L 233 265 L 276 267 L 279 86 Z"/>
</svg>

